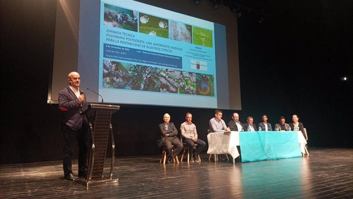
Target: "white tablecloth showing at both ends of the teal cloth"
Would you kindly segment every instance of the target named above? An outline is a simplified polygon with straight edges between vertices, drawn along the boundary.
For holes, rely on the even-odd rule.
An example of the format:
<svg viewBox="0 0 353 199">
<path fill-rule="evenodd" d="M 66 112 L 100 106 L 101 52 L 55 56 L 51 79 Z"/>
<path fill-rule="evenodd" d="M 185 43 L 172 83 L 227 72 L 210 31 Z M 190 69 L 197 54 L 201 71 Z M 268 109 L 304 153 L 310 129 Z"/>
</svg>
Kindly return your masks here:
<svg viewBox="0 0 353 199">
<path fill-rule="evenodd" d="M 278 131 L 280 133 L 280 131 Z M 306 145 L 306 140 L 301 131 L 298 133 L 298 142 L 300 146 L 300 151 L 305 154 L 304 146 Z M 236 146 L 239 146 L 239 132 L 215 132 L 209 133 L 207 135 L 208 140 L 208 154 L 231 154 L 235 159 L 239 156 L 239 151 Z M 241 146 L 240 146 L 241 147 Z"/>
</svg>

